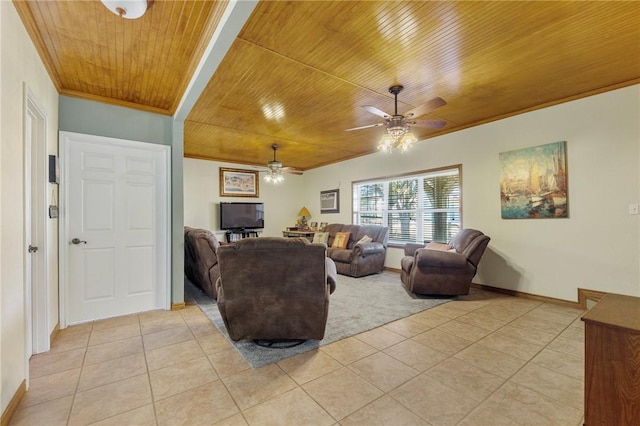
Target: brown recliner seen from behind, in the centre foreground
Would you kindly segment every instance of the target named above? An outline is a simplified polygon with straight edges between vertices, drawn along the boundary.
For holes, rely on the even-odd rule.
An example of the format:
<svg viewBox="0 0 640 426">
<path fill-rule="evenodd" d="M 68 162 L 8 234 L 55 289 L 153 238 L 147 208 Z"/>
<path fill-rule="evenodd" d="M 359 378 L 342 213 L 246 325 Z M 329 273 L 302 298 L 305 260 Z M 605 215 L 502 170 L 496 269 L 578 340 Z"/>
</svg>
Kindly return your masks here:
<svg viewBox="0 0 640 426">
<path fill-rule="evenodd" d="M 218 249 L 218 309 L 238 340 L 324 338 L 336 269 L 306 238 L 246 238 Z"/>
</svg>

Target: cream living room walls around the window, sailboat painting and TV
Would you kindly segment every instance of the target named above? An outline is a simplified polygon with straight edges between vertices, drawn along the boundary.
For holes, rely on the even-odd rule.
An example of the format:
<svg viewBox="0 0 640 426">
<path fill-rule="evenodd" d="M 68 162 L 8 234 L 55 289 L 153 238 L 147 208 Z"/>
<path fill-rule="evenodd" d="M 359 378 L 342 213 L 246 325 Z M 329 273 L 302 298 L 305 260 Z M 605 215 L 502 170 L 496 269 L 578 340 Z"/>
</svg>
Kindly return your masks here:
<svg viewBox="0 0 640 426">
<path fill-rule="evenodd" d="M 578 288 L 638 296 L 640 216 L 628 214 L 640 201 L 638 117 L 633 86 L 421 141 L 410 155 L 376 153 L 311 170 L 296 181 L 300 190 L 265 198 L 268 214 L 282 216 L 265 234 L 278 235 L 301 205 L 313 221 L 350 223 L 352 181 L 462 164 L 463 226 L 491 237 L 477 282 L 570 301 Z M 502 219 L 498 154 L 558 141 L 567 141 L 570 217 Z M 184 166 L 185 223 L 217 227 L 219 164 Z M 320 215 L 320 191 L 335 188 L 340 213 Z M 390 249 L 386 266 L 399 268 L 402 255 Z"/>
</svg>

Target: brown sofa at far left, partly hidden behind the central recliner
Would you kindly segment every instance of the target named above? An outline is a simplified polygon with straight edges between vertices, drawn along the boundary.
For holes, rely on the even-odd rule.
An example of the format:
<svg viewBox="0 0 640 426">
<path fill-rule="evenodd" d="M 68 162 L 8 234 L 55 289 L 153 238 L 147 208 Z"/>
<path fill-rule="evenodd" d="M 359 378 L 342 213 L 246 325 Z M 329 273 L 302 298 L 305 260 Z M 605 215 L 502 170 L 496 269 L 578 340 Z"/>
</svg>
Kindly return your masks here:
<svg viewBox="0 0 640 426">
<path fill-rule="evenodd" d="M 216 281 L 220 276 L 216 251 L 220 243 L 209 230 L 184 227 L 184 272 L 189 281 L 217 299 Z"/>
</svg>

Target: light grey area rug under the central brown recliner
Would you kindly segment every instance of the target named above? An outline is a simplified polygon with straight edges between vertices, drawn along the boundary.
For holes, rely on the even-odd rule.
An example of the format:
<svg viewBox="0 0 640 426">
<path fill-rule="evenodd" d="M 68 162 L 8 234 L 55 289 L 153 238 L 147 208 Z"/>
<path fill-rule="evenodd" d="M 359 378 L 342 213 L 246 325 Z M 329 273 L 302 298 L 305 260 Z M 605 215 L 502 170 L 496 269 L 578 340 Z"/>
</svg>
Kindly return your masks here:
<svg viewBox="0 0 640 426">
<path fill-rule="evenodd" d="M 329 301 L 324 339 L 307 340 L 292 348 L 265 348 L 251 341 L 232 341 L 216 301 L 185 278 L 185 299 L 189 298 L 200 307 L 253 368 L 276 363 L 452 300 L 410 294 L 402 286 L 399 274 L 395 272 L 385 271 L 361 278 L 338 275 L 336 290 Z"/>
</svg>

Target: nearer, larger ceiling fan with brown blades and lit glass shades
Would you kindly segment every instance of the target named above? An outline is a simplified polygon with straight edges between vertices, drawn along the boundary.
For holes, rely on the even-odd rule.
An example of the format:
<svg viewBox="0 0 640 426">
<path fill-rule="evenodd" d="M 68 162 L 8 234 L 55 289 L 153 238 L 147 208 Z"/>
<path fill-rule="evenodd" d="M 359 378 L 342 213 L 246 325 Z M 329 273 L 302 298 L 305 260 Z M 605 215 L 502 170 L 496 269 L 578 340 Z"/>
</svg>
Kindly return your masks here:
<svg viewBox="0 0 640 426">
<path fill-rule="evenodd" d="M 380 140 L 380 143 L 378 144 L 378 149 L 390 150 L 395 145 L 401 150 L 406 151 L 416 141 L 416 137 L 411 132 L 411 126 L 441 129 L 447 124 L 447 122 L 444 120 L 421 120 L 416 118 L 447 104 L 444 99 L 439 97 L 433 98 L 426 104 L 420 105 L 410 111 L 407 111 L 404 115 L 398 114 L 398 94 L 402 92 L 403 89 L 404 86 L 400 84 L 389 87 L 389 93 L 394 96 L 395 100 L 395 110 L 393 115 L 388 114 L 372 105 L 362 106 L 362 108 L 366 109 L 371 114 L 375 114 L 384 118 L 384 122 L 353 127 L 351 129 L 346 129 L 346 131 L 350 132 L 353 130 L 386 126 L 386 132 Z"/>
</svg>

